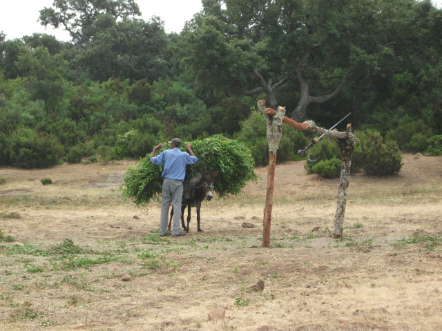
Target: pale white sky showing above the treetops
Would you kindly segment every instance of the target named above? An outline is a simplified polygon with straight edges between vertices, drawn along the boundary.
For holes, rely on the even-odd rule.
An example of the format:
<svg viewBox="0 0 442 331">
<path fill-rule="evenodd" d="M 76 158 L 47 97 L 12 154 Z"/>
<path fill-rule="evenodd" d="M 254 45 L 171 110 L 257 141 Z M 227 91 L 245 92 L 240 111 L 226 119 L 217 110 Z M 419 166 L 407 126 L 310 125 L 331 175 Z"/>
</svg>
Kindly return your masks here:
<svg viewBox="0 0 442 331">
<path fill-rule="evenodd" d="M 6 34 L 6 39 L 21 38 L 32 33 L 52 34 L 61 41 L 69 41 L 68 32 L 44 28 L 37 21 L 39 10 L 52 7 L 53 0 L 1 0 L 0 32 Z M 201 0 L 135 0 L 140 6 L 142 19 L 148 21 L 158 16 L 164 21 L 166 32 L 181 32 L 184 23 L 192 19 L 193 14 L 202 9 Z M 442 8 L 442 0 L 432 0 L 437 8 Z"/>
</svg>

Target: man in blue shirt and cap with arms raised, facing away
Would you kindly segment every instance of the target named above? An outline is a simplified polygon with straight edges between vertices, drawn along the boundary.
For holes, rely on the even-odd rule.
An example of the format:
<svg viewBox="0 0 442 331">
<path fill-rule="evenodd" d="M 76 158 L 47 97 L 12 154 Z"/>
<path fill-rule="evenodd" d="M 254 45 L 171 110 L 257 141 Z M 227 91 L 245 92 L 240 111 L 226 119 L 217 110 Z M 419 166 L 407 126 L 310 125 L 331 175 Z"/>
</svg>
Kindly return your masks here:
<svg viewBox="0 0 442 331">
<path fill-rule="evenodd" d="M 186 165 L 194 164 L 198 161 L 198 157 L 193 154 L 190 143 L 186 144 L 189 153 L 180 150 L 181 140 L 173 138 L 169 141 L 170 150 L 164 150 L 157 157 L 155 152 L 162 148 L 162 144 L 158 144 L 151 152 L 151 163 L 155 165 L 164 164 L 162 172 L 163 190 L 161 197 L 161 216 L 160 216 L 160 236 L 166 236 L 167 223 L 169 221 L 169 207 L 173 206 L 173 227 L 171 237 L 185 236 L 181 232 L 181 200 L 182 200 L 182 182 L 186 175 Z"/>
</svg>

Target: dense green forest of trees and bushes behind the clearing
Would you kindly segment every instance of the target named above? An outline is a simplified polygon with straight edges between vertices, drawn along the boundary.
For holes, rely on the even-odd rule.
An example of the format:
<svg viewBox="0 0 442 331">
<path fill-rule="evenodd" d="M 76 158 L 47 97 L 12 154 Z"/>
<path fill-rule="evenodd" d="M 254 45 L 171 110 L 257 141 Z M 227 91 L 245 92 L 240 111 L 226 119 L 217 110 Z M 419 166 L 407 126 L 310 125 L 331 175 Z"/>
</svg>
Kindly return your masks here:
<svg viewBox="0 0 442 331">
<path fill-rule="evenodd" d="M 251 112 L 262 98 L 323 127 L 351 111 L 390 150 L 440 154 L 442 10 L 429 0 L 202 5 L 180 34 L 138 19 L 133 0 L 42 8 L 41 24 L 69 42 L 0 32 L 0 164 L 138 158 L 171 137 L 224 134 L 266 165 L 265 121 Z M 283 130 L 278 161 L 305 145 Z"/>
</svg>

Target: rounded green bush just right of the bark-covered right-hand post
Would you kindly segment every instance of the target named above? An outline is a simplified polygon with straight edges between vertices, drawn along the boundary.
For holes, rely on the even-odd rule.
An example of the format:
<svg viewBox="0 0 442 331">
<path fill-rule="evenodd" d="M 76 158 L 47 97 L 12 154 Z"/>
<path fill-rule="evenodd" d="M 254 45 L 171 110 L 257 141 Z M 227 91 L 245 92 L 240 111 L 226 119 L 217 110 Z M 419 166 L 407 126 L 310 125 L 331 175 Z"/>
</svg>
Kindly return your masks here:
<svg viewBox="0 0 442 331">
<path fill-rule="evenodd" d="M 396 174 L 402 168 L 402 154 L 396 141 L 383 143 L 381 133 L 367 130 L 367 138 L 361 141 L 363 169 L 367 174 L 383 176 Z"/>
</svg>

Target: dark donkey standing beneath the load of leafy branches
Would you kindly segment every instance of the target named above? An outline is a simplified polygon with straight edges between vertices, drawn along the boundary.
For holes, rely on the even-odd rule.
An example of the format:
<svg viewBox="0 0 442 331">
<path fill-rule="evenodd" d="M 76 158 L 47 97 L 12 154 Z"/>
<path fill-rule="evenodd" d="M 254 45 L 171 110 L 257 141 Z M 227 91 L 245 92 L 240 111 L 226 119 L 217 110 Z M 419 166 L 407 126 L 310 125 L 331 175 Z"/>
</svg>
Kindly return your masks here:
<svg viewBox="0 0 442 331">
<path fill-rule="evenodd" d="M 183 184 L 182 201 L 181 201 L 181 225 L 182 228 L 189 232 L 189 223 L 191 223 L 191 208 L 196 207 L 196 220 L 198 222 L 198 231 L 202 232 L 200 221 L 201 203 L 204 199 L 210 201 L 213 197 L 213 181 L 212 177 L 218 174 L 219 170 L 208 174 L 200 170 L 200 173 L 194 177 L 186 179 Z M 187 226 L 184 224 L 184 210 L 187 208 Z M 173 217 L 173 208 L 171 208 L 171 219 L 169 220 L 168 229 L 171 230 Z"/>
</svg>

